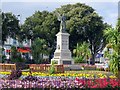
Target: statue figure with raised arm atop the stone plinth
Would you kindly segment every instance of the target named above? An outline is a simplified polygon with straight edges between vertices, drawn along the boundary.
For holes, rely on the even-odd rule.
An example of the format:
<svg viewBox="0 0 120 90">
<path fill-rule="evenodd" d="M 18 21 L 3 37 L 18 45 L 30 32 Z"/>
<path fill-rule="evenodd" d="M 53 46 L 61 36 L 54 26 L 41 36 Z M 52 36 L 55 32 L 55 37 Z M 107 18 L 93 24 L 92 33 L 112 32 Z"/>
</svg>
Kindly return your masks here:
<svg viewBox="0 0 120 90">
<path fill-rule="evenodd" d="M 66 17 L 64 14 L 61 16 L 58 12 L 56 12 L 56 15 L 58 17 L 58 20 L 61 21 L 60 32 L 64 33 L 66 31 L 66 23 L 65 23 Z"/>
</svg>

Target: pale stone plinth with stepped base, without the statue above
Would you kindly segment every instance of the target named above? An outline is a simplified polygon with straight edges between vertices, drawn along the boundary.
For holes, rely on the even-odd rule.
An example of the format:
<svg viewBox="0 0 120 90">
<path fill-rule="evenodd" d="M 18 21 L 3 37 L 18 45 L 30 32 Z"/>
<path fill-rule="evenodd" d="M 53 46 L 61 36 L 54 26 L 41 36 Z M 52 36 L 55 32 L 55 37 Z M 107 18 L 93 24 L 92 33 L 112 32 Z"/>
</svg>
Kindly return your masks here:
<svg viewBox="0 0 120 90">
<path fill-rule="evenodd" d="M 54 57 L 51 61 L 55 60 L 58 65 L 60 64 L 74 64 L 69 50 L 69 36 L 68 33 L 59 32 L 57 35 L 57 47 L 54 52 Z"/>
</svg>

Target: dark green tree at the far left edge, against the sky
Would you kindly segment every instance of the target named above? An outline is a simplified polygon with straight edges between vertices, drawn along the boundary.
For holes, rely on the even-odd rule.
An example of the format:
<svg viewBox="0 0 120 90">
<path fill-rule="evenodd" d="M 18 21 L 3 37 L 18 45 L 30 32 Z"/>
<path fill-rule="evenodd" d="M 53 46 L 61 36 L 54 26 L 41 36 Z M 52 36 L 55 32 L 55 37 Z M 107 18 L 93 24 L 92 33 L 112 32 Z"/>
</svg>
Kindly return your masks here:
<svg viewBox="0 0 120 90">
<path fill-rule="evenodd" d="M 20 31 L 19 20 L 12 13 L 2 13 L 2 43 L 9 37 L 16 39 Z"/>
</svg>

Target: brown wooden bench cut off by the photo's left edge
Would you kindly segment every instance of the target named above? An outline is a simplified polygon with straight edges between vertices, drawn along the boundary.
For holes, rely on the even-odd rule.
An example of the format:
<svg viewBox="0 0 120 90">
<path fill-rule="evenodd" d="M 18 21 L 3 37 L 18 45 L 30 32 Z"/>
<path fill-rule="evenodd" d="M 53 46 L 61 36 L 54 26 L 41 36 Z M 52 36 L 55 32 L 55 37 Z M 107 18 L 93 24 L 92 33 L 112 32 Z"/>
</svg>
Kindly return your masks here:
<svg viewBox="0 0 120 90">
<path fill-rule="evenodd" d="M 12 71 L 12 70 L 16 70 L 16 64 L 0 63 L 0 71 Z"/>
</svg>

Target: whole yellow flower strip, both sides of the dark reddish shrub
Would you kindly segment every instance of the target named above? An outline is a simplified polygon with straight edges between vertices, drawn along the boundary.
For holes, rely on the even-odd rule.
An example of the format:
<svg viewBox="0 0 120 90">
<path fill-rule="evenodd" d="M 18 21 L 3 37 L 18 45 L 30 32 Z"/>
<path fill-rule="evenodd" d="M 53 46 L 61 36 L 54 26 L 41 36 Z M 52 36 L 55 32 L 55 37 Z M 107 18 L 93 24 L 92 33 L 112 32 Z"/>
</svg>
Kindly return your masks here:
<svg viewBox="0 0 120 90">
<path fill-rule="evenodd" d="M 11 72 L 0 72 L 0 78 L 2 78 L 3 75 L 8 76 L 11 74 Z M 96 73 L 74 73 L 74 72 L 65 72 L 65 73 L 58 73 L 58 74 L 49 74 L 49 73 L 41 73 L 41 72 L 22 72 L 22 77 L 26 76 L 37 76 L 37 77 L 79 77 L 79 78 L 88 78 L 88 79 L 94 79 L 94 78 L 117 78 L 115 75 L 106 75 L 101 74 L 101 72 Z"/>
</svg>

